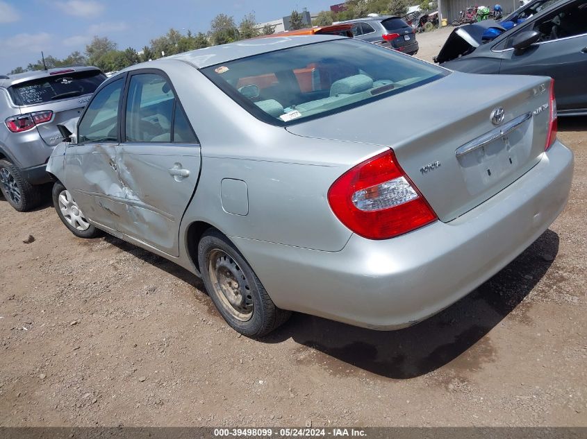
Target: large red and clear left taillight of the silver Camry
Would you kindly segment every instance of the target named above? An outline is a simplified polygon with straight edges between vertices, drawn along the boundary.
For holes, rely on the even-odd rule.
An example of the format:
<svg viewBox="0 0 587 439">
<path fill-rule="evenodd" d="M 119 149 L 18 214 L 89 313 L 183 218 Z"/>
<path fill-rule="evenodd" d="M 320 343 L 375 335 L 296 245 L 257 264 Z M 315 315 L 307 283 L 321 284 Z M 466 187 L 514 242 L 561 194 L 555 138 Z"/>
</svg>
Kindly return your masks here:
<svg viewBox="0 0 587 439">
<path fill-rule="evenodd" d="M 342 174 L 328 201 L 342 224 L 368 239 L 393 238 L 437 219 L 392 150 Z"/>
</svg>

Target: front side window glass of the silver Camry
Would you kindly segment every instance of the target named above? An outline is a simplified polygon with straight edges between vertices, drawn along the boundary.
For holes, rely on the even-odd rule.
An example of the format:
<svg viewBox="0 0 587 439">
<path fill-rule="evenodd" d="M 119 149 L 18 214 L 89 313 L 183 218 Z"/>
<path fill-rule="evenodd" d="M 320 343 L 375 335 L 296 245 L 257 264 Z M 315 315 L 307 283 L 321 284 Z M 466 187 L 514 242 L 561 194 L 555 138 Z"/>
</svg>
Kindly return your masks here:
<svg viewBox="0 0 587 439">
<path fill-rule="evenodd" d="M 78 128 L 78 143 L 118 141 L 118 109 L 124 80 L 101 89 L 88 105 Z"/>
</svg>

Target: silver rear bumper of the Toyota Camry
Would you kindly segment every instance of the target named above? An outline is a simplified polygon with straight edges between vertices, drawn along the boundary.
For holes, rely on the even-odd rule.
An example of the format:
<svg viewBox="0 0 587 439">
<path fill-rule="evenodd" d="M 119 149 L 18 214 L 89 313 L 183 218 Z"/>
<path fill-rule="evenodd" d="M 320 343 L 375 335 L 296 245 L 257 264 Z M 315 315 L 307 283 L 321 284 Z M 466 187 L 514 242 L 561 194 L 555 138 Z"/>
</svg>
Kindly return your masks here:
<svg viewBox="0 0 587 439">
<path fill-rule="evenodd" d="M 353 235 L 339 252 L 232 239 L 278 307 L 399 329 L 467 295 L 543 234 L 567 203 L 572 166 L 556 141 L 533 169 L 455 220 L 385 241 Z"/>
</svg>

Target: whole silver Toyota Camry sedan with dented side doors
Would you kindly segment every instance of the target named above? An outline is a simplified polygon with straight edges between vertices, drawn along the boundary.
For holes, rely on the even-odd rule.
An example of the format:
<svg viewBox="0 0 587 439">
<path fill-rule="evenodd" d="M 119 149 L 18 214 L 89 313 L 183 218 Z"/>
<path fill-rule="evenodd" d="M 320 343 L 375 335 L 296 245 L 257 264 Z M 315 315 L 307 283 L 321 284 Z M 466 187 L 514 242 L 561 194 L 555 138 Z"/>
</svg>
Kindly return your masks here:
<svg viewBox="0 0 587 439">
<path fill-rule="evenodd" d="M 247 336 L 291 311 L 398 329 L 493 276 L 565 206 L 552 89 L 335 36 L 183 53 L 113 76 L 61 127 L 53 201 L 76 236 L 201 276 Z"/>
</svg>

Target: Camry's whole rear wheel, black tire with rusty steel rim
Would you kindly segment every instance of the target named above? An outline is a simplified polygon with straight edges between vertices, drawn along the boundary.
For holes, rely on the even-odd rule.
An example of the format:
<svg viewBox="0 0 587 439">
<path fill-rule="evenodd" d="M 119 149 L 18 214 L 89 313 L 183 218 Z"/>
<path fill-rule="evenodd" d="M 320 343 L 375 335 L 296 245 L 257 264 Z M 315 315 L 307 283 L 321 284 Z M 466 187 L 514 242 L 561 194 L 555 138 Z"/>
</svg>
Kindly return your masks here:
<svg viewBox="0 0 587 439">
<path fill-rule="evenodd" d="M 275 306 L 251 266 L 220 232 L 209 230 L 202 236 L 198 263 L 210 298 L 240 334 L 264 336 L 290 317 L 290 311 Z"/>
</svg>

